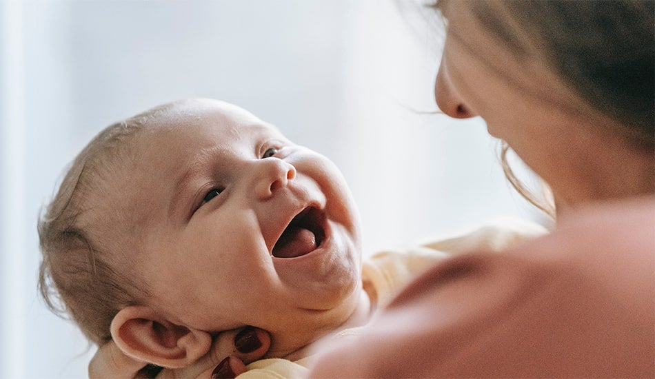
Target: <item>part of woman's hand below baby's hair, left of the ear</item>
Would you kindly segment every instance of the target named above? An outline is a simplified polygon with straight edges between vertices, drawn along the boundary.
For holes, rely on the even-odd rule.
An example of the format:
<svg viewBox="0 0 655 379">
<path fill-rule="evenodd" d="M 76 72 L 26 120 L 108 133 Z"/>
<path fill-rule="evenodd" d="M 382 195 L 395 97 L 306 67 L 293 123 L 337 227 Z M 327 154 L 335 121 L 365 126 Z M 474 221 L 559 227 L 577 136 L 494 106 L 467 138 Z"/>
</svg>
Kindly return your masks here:
<svg viewBox="0 0 655 379">
<path fill-rule="evenodd" d="M 134 378 L 145 362 L 123 354 L 123 351 L 110 341 L 99 347 L 89 362 L 89 378 Z"/>
</svg>

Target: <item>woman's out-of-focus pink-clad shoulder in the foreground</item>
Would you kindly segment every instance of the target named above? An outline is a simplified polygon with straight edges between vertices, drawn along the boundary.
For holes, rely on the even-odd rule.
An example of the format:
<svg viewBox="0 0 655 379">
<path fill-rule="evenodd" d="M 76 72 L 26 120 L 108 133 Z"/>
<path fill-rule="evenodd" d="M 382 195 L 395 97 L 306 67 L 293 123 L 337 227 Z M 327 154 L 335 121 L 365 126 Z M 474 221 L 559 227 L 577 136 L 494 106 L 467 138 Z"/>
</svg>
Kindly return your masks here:
<svg viewBox="0 0 655 379">
<path fill-rule="evenodd" d="M 594 205 L 432 267 L 313 375 L 653 377 L 653 298 L 654 199 Z"/>
</svg>

